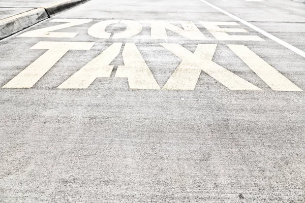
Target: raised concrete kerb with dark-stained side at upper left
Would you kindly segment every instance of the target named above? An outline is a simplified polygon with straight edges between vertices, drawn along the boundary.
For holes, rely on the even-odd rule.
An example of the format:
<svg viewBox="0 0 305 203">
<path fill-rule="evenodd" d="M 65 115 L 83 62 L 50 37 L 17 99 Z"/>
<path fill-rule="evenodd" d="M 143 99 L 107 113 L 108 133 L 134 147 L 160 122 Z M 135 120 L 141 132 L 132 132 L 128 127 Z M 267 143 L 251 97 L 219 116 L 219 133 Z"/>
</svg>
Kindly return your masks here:
<svg viewBox="0 0 305 203">
<path fill-rule="evenodd" d="M 0 40 L 90 0 L 64 0 L 0 20 Z"/>
</svg>

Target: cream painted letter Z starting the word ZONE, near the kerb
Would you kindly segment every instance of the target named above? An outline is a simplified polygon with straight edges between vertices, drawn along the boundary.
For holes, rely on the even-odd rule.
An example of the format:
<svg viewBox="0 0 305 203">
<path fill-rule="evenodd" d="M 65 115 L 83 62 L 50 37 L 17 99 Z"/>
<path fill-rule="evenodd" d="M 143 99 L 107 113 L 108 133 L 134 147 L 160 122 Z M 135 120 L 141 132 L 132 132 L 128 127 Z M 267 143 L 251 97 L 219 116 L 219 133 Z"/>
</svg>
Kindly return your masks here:
<svg viewBox="0 0 305 203">
<path fill-rule="evenodd" d="M 64 29 L 76 25 L 85 24 L 91 22 L 92 19 L 62 19 L 55 18 L 50 22 L 67 22 L 65 24 L 54 25 L 32 31 L 22 33 L 17 37 L 36 37 L 36 38 L 74 38 L 78 32 L 51 32 L 58 29 Z"/>
</svg>

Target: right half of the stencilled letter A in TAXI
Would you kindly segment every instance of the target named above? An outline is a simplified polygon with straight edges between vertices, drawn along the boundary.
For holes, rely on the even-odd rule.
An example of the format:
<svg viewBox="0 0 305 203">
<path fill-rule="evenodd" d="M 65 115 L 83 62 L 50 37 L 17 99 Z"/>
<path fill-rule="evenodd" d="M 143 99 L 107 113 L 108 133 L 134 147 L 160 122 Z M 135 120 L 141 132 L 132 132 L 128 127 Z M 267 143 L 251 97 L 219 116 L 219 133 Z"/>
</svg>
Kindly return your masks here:
<svg viewBox="0 0 305 203">
<path fill-rule="evenodd" d="M 131 89 L 160 89 L 135 43 L 125 44 L 123 60 L 125 65 L 117 67 L 116 78 L 127 78 Z"/>
</svg>

